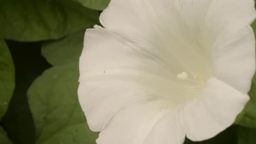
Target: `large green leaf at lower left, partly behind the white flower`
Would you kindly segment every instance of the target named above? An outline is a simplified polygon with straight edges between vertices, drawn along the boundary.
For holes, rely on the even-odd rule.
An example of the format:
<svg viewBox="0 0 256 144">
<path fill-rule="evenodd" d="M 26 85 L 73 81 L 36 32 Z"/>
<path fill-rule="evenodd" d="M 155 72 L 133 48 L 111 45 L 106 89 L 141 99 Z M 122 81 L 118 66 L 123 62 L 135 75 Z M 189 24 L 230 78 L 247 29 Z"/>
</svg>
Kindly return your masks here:
<svg viewBox="0 0 256 144">
<path fill-rule="evenodd" d="M 36 127 L 36 144 L 94 144 L 79 105 L 78 64 L 56 66 L 43 72 L 28 96 Z"/>
</svg>

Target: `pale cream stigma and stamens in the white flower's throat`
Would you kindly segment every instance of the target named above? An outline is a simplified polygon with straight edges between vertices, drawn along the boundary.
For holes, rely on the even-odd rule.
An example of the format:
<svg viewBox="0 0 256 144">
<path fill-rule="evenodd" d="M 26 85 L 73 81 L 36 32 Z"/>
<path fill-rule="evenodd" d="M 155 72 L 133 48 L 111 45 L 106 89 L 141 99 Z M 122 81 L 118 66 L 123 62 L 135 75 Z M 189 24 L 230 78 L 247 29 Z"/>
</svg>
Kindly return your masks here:
<svg viewBox="0 0 256 144">
<path fill-rule="evenodd" d="M 182 72 L 178 74 L 177 77 L 192 84 L 192 86 L 190 86 L 189 88 L 197 92 L 205 87 L 207 81 L 206 78 L 198 75 L 194 75 L 192 78 L 189 78 L 187 72 Z"/>
</svg>

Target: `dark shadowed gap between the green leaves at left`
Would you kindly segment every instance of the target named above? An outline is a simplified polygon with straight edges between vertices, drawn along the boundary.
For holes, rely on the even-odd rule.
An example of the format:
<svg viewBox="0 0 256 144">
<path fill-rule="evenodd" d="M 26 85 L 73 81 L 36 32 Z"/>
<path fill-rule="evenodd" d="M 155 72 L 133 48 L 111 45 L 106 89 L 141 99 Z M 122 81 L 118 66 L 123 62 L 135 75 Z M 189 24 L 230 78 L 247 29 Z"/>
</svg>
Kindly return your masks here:
<svg viewBox="0 0 256 144">
<path fill-rule="evenodd" d="M 35 127 L 27 98 L 31 83 L 50 65 L 41 55 L 41 43 L 6 41 L 15 65 L 15 90 L 1 125 L 15 144 L 34 144 Z"/>
</svg>

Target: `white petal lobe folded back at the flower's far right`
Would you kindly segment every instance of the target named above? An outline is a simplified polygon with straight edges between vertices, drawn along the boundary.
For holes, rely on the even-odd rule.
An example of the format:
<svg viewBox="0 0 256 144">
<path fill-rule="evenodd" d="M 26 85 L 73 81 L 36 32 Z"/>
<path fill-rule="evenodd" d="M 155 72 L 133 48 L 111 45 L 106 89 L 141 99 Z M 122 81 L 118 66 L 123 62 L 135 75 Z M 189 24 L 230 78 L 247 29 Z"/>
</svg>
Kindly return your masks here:
<svg viewBox="0 0 256 144">
<path fill-rule="evenodd" d="M 246 26 L 213 48 L 213 75 L 247 94 L 255 73 L 255 38 Z"/>
</svg>

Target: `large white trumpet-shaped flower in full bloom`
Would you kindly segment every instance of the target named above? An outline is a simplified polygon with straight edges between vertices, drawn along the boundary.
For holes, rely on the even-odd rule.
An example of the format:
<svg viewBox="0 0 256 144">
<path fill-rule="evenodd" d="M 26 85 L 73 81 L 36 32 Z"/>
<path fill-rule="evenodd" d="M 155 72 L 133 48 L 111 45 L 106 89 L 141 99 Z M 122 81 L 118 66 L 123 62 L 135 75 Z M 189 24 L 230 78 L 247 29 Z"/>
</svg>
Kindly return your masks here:
<svg viewBox="0 0 256 144">
<path fill-rule="evenodd" d="M 112 0 L 85 33 L 79 101 L 98 144 L 214 137 L 249 100 L 253 0 Z"/>
</svg>

